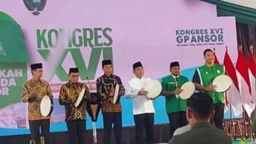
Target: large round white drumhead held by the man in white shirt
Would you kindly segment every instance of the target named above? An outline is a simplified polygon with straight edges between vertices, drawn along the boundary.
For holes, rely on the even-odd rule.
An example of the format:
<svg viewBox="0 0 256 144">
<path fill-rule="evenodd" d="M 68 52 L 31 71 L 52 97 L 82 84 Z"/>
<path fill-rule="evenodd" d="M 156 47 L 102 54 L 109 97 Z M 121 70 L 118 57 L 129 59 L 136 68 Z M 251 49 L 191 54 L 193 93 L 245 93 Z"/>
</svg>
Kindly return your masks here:
<svg viewBox="0 0 256 144">
<path fill-rule="evenodd" d="M 162 85 L 158 80 L 150 80 L 143 88 L 144 91 L 148 91 L 146 95 L 148 98 L 157 98 L 162 91 Z"/>
</svg>

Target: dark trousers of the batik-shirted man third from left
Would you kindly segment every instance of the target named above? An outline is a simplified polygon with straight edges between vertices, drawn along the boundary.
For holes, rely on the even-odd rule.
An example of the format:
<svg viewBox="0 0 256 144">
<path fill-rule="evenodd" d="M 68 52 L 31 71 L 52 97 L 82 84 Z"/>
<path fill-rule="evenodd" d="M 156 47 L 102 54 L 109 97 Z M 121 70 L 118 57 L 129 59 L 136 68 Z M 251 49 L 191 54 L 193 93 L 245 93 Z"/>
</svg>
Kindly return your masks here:
<svg viewBox="0 0 256 144">
<path fill-rule="evenodd" d="M 122 140 L 122 112 L 102 112 L 104 125 L 104 144 L 111 143 L 111 130 L 114 123 L 115 143 Z"/>
</svg>

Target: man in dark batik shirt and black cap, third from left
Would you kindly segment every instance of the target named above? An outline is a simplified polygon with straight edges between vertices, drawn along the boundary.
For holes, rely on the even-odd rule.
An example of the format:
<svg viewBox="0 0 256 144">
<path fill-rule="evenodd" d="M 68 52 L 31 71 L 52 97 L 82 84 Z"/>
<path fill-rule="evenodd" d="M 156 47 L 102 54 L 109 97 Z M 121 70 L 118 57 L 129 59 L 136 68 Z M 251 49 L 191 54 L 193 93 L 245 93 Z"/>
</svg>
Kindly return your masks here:
<svg viewBox="0 0 256 144">
<path fill-rule="evenodd" d="M 102 115 L 104 126 L 104 143 L 111 143 L 111 130 L 114 124 L 115 143 L 122 143 L 122 105 L 121 95 L 125 94 L 125 87 L 119 76 L 113 75 L 111 60 L 102 61 L 104 75 L 96 80 L 97 93 L 102 101 Z"/>
</svg>

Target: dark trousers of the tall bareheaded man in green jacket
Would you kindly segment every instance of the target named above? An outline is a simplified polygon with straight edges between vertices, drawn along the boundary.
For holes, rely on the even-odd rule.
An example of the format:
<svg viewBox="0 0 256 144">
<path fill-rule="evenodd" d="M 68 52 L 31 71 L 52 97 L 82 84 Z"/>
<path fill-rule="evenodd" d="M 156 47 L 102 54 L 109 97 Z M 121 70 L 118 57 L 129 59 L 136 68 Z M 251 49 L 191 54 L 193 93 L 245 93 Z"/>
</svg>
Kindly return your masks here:
<svg viewBox="0 0 256 144">
<path fill-rule="evenodd" d="M 223 130 L 223 120 L 224 120 L 224 108 L 225 105 L 223 103 L 215 103 L 214 104 L 214 118 L 211 119 L 212 125 L 215 125 L 220 130 Z"/>
</svg>

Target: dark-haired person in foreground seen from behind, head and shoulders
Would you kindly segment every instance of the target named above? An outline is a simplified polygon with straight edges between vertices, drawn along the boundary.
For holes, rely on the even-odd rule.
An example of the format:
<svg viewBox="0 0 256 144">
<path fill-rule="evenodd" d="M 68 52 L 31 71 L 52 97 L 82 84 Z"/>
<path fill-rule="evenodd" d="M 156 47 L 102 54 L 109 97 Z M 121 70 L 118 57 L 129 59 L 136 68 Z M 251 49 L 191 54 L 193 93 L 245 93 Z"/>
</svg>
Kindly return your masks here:
<svg viewBox="0 0 256 144">
<path fill-rule="evenodd" d="M 223 130 L 211 126 L 214 115 L 213 100 L 206 93 L 195 93 L 187 102 L 187 119 L 191 129 L 175 135 L 169 144 L 230 144 L 230 138 Z"/>
</svg>

